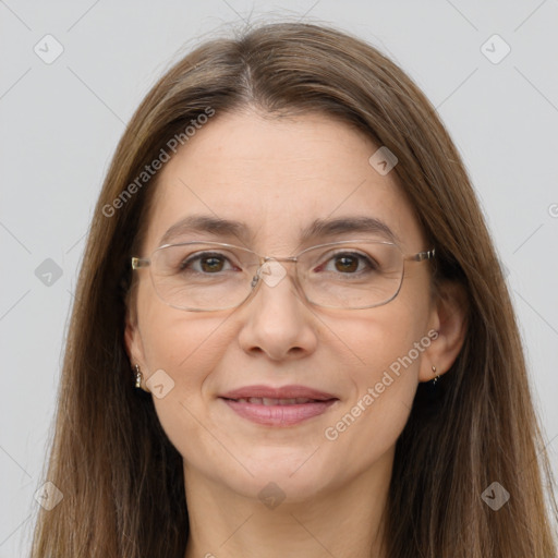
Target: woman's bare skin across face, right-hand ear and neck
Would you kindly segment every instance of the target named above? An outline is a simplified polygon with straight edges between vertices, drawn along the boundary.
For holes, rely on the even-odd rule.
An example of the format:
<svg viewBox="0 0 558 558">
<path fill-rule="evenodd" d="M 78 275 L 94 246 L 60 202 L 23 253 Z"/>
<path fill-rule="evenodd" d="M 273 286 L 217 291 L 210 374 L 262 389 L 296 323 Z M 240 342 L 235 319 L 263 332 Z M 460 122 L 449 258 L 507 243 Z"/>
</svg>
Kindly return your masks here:
<svg viewBox="0 0 558 558">
<path fill-rule="evenodd" d="M 244 221 L 254 235 L 248 247 L 259 254 L 295 254 L 311 221 L 341 216 L 381 218 L 407 254 L 430 248 L 395 171 L 380 175 L 368 163 L 376 149 L 325 116 L 217 114 L 161 170 L 137 255 L 148 257 L 169 227 L 199 213 Z M 199 233 L 180 240 L 196 239 L 217 240 Z M 234 236 L 221 241 L 243 245 Z M 174 381 L 154 402 L 184 460 L 185 558 L 385 556 L 381 514 L 395 444 L 418 381 L 433 379 L 433 365 L 447 371 L 462 347 L 459 292 L 447 286 L 444 296 L 432 296 L 429 266 L 421 263 L 408 265 L 397 298 L 375 308 L 312 306 L 287 277 L 262 284 L 235 310 L 194 313 L 166 305 L 148 270 L 137 274 L 125 341 L 144 389 L 160 368 Z M 438 338 L 354 424 L 326 439 L 325 429 L 429 330 Z M 254 384 L 300 384 L 339 401 L 294 426 L 257 425 L 218 399 Z M 284 496 L 272 509 L 258 497 L 271 482 Z"/>
</svg>

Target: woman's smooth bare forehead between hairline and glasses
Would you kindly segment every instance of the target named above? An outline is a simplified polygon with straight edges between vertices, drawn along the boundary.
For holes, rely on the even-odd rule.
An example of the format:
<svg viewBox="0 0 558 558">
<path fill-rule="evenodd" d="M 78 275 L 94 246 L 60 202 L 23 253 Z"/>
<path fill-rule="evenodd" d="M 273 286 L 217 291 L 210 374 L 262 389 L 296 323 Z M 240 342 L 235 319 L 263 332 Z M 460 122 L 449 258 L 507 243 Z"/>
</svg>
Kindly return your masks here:
<svg viewBox="0 0 558 558">
<path fill-rule="evenodd" d="M 385 226 L 385 235 L 393 235 L 386 240 L 405 252 L 423 250 L 395 171 L 383 175 L 368 162 L 377 149 L 364 134 L 327 116 L 217 114 L 161 169 L 145 248 L 213 234 L 290 254 L 306 240 L 319 243 L 325 231 L 335 240 L 336 227 L 327 225 L 352 219 L 373 229 L 373 221 Z M 205 221 L 209 230 L 182 226 L 186 221 Z M 219 221 L 240 228 L 231 232 Z"/>
</svg>

